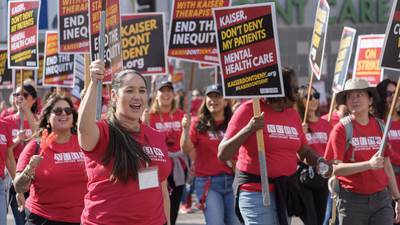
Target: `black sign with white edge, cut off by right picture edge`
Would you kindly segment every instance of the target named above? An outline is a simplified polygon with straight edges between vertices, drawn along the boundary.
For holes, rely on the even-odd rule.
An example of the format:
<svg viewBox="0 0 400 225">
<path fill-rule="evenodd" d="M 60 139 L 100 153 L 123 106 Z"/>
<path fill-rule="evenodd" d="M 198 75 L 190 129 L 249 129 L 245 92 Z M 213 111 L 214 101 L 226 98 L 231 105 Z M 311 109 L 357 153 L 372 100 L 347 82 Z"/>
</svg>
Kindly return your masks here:
<svg viewBox="0 0 400 225">
<path fill-rule="evenodd" d="M 400 70 L 400 2 L 393 2 L 392 12 L 386 28 L 381 67 Z"/>
</svg>

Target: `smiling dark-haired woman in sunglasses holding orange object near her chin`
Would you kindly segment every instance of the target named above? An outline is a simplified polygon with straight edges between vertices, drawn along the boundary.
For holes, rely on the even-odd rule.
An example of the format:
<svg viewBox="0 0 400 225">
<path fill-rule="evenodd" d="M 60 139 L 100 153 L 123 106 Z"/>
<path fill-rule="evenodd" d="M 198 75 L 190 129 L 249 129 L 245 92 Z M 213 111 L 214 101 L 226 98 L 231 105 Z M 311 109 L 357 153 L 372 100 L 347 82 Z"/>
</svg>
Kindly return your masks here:
<svg viewBox="0 0 400 225">
<path fill-rule="evenodd" d="M 28 225 L 80 224 L 87 176 L 77 117 L 69 98 L 52 97 L 39 121 L 41 142 L 29 142 L 21 153 L 14 187 L 18 195 L 30 189 Z M 18 199 L 23 201 L 23 195 Z"/>
</svg>

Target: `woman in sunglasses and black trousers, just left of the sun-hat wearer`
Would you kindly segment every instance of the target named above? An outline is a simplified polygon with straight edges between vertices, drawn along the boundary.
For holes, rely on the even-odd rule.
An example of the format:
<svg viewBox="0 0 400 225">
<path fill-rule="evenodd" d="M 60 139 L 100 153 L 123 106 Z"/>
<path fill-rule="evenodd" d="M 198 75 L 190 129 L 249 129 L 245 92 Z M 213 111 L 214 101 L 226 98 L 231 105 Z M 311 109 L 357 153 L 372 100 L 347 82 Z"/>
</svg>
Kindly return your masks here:
<svg viewBox="0 0 400 225">
<path fill-rule="evenodd" d="M 301 118 L 304 117 L 305 113 L 307 92 L 308 86 L 299 88 L 300 97 L 297 101 L 297 109 Z M 319 117 L 319 97 L 320 93 L 312 87 L 303 131 L 308 145 L 319 157 L 323 157 L 332 127 L 327 121 Z M 317 173 L 316 167 L 305 165 L 303 162 L 299 162 L 299 166 L 298 172 L 300 174 L 302 194 L 309 199 L 307 209 L 310 209 L 310 213 L 313 215 L 314 223 L 312 224 L 322 224 L 328 200 L 328 180 Z"/>
</svg>

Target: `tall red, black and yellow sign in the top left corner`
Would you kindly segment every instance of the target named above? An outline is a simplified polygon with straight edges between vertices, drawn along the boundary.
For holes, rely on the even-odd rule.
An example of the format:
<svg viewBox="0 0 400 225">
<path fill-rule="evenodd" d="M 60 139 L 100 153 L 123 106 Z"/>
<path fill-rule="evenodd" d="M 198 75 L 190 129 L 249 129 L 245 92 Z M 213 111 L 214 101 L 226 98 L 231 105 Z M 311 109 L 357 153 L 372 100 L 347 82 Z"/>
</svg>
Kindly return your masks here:
<svg viewBox="0 0 400 225">
<path fill-rule="evenodd" d="M 37 69 L 38 0 L 8 2 L 8 68 Z"/>
</svg>

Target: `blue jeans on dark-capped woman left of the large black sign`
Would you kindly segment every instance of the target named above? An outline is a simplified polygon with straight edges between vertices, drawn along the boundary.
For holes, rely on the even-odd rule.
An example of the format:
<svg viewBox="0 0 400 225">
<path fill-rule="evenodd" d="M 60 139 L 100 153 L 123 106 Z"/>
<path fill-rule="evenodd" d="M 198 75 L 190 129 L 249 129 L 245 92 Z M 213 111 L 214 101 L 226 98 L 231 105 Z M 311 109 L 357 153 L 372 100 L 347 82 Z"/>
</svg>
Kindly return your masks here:
<svg viewBox="0 0 400 225">
<path fill-rule="evenodd" d="M 233 208 L 233 176 L 221 174 L 211 177 L 196 177 L 195 189 L 198 199 L 204 192 L 207 180 L 211 185 L 205 202 L 204 217 L 207 225 L 240 225 Z"/>
</svg>

